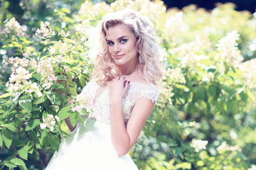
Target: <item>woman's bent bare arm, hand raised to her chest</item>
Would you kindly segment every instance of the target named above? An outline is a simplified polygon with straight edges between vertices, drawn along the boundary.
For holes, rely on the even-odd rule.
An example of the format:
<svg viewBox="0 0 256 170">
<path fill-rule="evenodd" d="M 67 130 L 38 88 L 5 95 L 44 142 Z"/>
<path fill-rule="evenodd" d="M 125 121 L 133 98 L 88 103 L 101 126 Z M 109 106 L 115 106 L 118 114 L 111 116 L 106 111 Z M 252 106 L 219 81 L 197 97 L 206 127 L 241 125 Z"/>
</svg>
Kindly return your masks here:
<svg viewBox="0 0 256 170">
<path fill-rule="evenodd" d="M 116 81 L 117 80 L 115 80 L 114 83 L 116 83 Z M 120 78 L 120 81 L 122 81 L 122 78 Z M 112 144 L 114 145 L 117 154 L 122 156 L 127 154 L 129 149 L 131 149 L 136 142 L 137 137 L 139 136 L 139 133 L 142 131 L 143 125 L 146 122 L 146 119 L 149 117 L 154 108 L 154 103 L 147 98 L 139 98 L 134 105 L 127 126 L 125 126 L 122 111 L 122 96 L 119 97 L 120 95 L 114 95 L 113 91 L 119 90 L 117 86 L 114 85 L 112 84 L 110 86 L 111 137 Z M 125 92 L 127 91 L 126 88 L 126 85 L 123 86 Z"/>
</svg>

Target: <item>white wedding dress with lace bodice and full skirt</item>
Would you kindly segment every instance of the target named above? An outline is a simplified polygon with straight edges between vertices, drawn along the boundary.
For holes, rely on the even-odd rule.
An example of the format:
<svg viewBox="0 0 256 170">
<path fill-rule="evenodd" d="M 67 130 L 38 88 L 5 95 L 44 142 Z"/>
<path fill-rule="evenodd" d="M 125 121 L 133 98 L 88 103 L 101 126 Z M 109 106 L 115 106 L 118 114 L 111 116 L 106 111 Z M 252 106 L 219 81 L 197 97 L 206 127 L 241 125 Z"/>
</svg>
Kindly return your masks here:
<svg viewBox="0 0 256 170">
<path fill-rule="evenodd" d="M 110 132 L 110 101 L 107 88 L 102 89 L 92 79 L 80 96 L 88 98 L 92 103 L 84 125 L 78 123 L 70 137 L 60 144 L 58 152 L 53 154 L 46 170 L 135 170 L 137 166 L 128 154 L 118 157 L 112 142 Z M 155 102 L 158 91 L 153 84 L 131 82 L 124 96 L 122 105 L 124 122 L 127 123 L 132 113 L 134 103 L 139 98 L 149 98 Z"/>
</svg>

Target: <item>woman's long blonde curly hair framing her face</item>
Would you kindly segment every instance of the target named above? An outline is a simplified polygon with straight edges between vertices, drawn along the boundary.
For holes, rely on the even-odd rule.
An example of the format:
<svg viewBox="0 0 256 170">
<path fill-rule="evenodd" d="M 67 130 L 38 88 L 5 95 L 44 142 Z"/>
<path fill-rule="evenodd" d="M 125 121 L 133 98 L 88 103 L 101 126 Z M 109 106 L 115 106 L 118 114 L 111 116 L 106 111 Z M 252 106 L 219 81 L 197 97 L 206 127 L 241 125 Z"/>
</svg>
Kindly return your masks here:
<svg viewBox="0 0 256 170">
<path fill-rule="evenodd" d="M 158 45 L 153 23 L 133 10 L 108 13 L 98 23 L 97 31 L 100 34 L 97 33 L 97 38 L 92 38 L 95 45 L 90 47 L 90 56 L 95 65 L 92 74 L 96 77 L 97 84 L 104 85 L 121 75 L 119 67 L 110 57 L 106 42 L 108 28 L 121 24 L 130 28 L 137 38 L 138 60 L 139 55 L 142 57 L 142 63 L 137 64 L 137 71 L 141 69 L 149 83 L 158 84 L 163 76 L 163 65 L 160 60 L 161 47 Z"/>
</svg>

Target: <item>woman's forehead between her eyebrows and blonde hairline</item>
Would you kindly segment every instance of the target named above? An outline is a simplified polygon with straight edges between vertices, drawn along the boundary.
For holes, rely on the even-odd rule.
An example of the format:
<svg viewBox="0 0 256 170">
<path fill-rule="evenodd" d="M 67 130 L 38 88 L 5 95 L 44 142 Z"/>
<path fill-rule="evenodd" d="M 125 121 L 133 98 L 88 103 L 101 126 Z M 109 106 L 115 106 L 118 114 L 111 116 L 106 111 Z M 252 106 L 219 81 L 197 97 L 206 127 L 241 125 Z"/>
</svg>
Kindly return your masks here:
<svg viewBox="0 0 256 170">
<path fill-rule="evenodd" d="M 107 39 L 111 39 L 111 38 L 118 39 L 122 36 L 134 37 L 135 35 L 132 32 L 131 28 L 129 28 L 128 26 L 125 26 L 124 24 L 112 26 L 107 29 L 107 34 L 106 34 Z"/>
</svg>

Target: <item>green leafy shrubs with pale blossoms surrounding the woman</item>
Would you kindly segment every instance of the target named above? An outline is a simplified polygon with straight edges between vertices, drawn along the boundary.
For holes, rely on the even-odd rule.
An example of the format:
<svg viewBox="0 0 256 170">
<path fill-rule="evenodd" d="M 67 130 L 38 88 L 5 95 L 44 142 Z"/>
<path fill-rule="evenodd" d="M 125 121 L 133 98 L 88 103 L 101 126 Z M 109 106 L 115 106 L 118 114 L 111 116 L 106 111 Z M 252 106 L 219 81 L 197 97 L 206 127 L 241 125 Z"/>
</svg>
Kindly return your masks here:
<svg viewBox="0 0 256 170">
<path fill-rule="evenodd" d="M 111 2 L 0 1 L 1 169 L 43 169 L 67 136 L 64 119 L 86 117 L 86 101 L 75 98 L 93 67 L 89 28 L 123 8 L 153 21 L 166 64 L 159 101 L 129 152 L 139 169 L 256 169 L 256 13 Z"/>
</svg>

